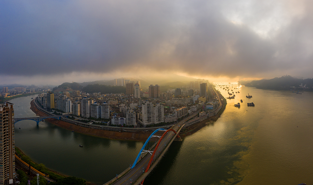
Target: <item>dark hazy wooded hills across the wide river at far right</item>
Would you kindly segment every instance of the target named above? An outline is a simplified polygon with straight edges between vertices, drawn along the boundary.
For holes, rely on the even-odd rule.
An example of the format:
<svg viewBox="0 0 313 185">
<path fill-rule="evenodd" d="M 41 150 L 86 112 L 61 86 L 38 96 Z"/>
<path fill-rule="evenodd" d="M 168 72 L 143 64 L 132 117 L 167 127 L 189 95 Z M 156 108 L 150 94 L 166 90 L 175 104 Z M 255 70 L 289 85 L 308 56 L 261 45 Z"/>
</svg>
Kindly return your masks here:
<svg viewBox="0 0 313 185">
<path fill-rule="evenodd" d="M 307 90 L 313 90 L 313 79 L 299 79 L 290 75 L 285 75 L 280 78 L 276 77 L 270 80 L 254 80 L 246 83 L 247 87 L 256 87 L 258 89 L 273 89 L 273 90 L 290 90 L 290 87 L 301 88 L 300 85 L 306 85 Z"/>
</svg>

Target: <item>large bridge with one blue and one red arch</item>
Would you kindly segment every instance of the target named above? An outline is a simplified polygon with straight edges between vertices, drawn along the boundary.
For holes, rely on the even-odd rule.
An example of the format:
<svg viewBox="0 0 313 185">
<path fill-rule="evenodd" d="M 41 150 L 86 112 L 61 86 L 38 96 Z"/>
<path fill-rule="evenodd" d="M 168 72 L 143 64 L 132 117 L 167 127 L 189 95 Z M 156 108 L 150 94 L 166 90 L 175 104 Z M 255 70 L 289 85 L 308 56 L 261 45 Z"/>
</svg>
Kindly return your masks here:
<svg viewBox="0 0 313 185">
<path fill-rule="evenodd" d="M 184 124 L 185 125 L 185 124 Z M 156 129 L 148 137 L 138 153 L 133 164 L 122 172 L 116 175 L 111 181 L 105 183 L 114 185 L 139 185 L 142 184 L 146 176 L 152 171 L 162 156 L 166 153 L 173 141 L 181 141 L 179 132 L 184 125 L 175 125 L 171 129 Z"/>
</svg>

